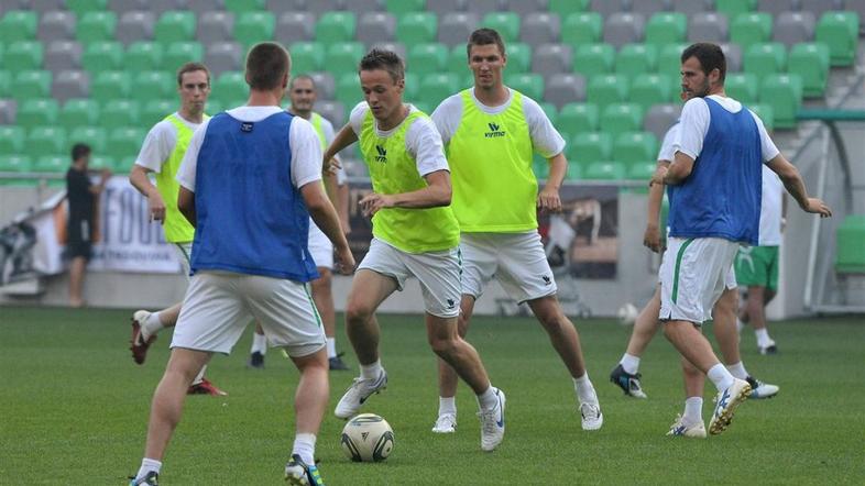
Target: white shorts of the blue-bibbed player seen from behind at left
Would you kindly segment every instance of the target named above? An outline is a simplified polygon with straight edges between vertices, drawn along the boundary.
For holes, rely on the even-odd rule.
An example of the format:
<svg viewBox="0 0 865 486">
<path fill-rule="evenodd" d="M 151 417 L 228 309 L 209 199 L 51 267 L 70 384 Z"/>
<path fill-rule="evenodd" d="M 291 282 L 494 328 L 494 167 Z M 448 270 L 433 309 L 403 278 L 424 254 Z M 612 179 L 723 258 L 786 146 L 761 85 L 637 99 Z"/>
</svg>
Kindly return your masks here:
<svg viewBox="0 0 865 486">
<path fill-rule="evenodd" d="M 252 318 L 270 345 L 291 356 L 325 346 L 325 329 L 304 284 L 228 272 L 193 276 L 171 346 L 229 354 Z"/>
</svg>

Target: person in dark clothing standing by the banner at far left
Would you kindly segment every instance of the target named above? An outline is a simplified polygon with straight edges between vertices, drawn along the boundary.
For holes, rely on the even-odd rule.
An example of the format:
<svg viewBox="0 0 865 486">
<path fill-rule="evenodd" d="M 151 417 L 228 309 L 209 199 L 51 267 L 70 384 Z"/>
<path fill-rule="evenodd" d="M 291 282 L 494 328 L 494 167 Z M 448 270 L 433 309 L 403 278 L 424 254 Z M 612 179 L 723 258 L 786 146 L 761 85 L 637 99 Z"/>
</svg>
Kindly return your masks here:
<svg viewBox="0 0 865 486">
<path fill-rule="evenodd" d="M 111 172 L 101 170 L 98 185 L 90 183 L 87 165 L 90 162 L 90 147 L 77 143 L 72 150 L 72 166 L 66 173 L 66 198 L 69 206 L 69 220 L 66 227 L 66 257 L 69 258 L 69 306 L 83 307 L 84 274 L 90 259 L 94 238 L 94 218 L 97 196 L 106 187 Z"/>
</svg>

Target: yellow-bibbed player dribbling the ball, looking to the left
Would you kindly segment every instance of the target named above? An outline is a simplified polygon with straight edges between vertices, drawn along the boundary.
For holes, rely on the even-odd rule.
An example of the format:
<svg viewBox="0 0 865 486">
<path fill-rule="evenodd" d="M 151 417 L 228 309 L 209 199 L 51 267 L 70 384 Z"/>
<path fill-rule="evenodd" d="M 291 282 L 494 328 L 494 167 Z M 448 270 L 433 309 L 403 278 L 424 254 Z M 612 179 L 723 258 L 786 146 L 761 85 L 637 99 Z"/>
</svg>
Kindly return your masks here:
<svg viewBox="0 0 865 486">
<path fill-rule="evenodd" d="M 346 330 L 361 375 L 335 415 L 353 417 L 387 385 L 379 358 L 375 310 L 414 276 L 424 295 L 427 340 L 477 394 L 481 449 L 492 451 L 504 439 L 505 395 L 490 384 L 478 352 L 457 332 L 460 232 L 450 209 L 450 172 L 441 137 L 429 117 L 403 103 L 405 68 L 399 56 L 374 48 L 361 59 L 359 75 L 365 102 L 354 107 L 324 155 L 330 161 L 360 141 L 373 189 L 360 201 L 363 213 L 372 217 L 373 240 L 346 308 Z"/>
</svg>

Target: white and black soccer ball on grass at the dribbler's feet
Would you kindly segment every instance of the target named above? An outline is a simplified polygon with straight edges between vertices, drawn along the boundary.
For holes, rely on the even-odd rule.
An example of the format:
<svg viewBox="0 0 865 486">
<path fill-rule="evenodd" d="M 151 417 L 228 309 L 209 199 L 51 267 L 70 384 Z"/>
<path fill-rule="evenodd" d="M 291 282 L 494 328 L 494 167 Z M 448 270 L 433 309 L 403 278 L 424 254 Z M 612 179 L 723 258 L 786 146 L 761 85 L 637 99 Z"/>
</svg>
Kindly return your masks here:
<svg viewBox="0 0 865 486">
<path fill-rule="evenodd" d="M 381 462 L 394 449 L 394 431 L 375 413 L 361 413 L 342 429 L 342 452 L 354 462 Z"/>
</svg>

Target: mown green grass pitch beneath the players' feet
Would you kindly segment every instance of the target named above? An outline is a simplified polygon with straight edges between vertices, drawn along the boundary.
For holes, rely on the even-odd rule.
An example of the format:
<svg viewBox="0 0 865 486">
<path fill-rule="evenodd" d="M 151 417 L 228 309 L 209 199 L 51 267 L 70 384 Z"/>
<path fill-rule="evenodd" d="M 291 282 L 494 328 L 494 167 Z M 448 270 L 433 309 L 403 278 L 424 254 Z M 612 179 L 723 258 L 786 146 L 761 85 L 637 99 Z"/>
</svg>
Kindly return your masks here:
<svg viewBox="0 0 865 486">
<path fill-rule="evenodd" d="M 169 333 L 138 366 L 127 350 L 130 312 L 0 308 L 0 483 L 125 484 L 141 461 Z M 478 318 L 470 341 L 493 383 L 507 393 L 507 434 L 494 453 L 480 451 L 477 406 L 464 385 L 458 432 L 429 431 L 438 401 L 421 320 L 385 316 L 381 322 L 390 385 L 364 410 L 390 421 L 396 446 L 382 464 L 355 464 L 342 455 L 344 422 L 330 413 L 354 372 L 331 374 L 331 404 L 317 446 L 328 485 L 865 483 L 861 318 L 775 323 L 781 353 L 770 357 L 756 353 L 748 330 L 748 371 L 781 391 L 773 400 L 745 402 L 730 430 L 708 440 L 664 435 L 682 397 L 678 361 L 663 336 L 643 360 L 649 399 L 635 400 L 607 380 L 629 328 L 578 322 L 605 416 L 602 430 L 584 432 L 570 378 L 541 329 L 527 319 Z M 348 350 L 341 329 L 339 336 L 339 347 Z M 248 333 L 233 355 L 211 362 L 210 378 L 230 396 L 187 400 L 162 484 L 281 484 L 297 374 L 273 351 L 266 369 L 248 369 L 249 344 Z M 347 357 L 355 363 L 351 352 Z"/>
</svg>

